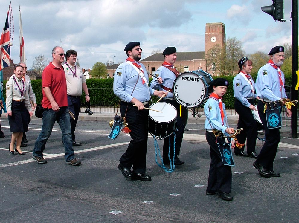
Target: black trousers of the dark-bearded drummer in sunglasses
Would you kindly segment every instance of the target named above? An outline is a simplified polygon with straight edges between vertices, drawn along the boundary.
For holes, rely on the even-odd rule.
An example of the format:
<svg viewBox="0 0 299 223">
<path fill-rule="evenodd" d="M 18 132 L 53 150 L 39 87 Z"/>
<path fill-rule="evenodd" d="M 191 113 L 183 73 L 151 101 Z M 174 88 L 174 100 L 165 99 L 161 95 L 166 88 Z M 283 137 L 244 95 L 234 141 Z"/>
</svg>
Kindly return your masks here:
<svg viewBox="0 0 299 223">
<path fill-rule="evenodd" d="M 144 107 L 149 108 L 148 105 Z M 121 116 L 126 117 L 126 121 L 129 123 L 128 127 L 131 130 L 130 136 L 132 140 L 119 161 L 128 169 L 131 169 L 133 166 L 134 173 L 145 174 L 148 110 L 143 109 L 138 111 L 137 107 L 133 107 L 133 104 L 120 102 L 120 113 Z"/>
</svg>

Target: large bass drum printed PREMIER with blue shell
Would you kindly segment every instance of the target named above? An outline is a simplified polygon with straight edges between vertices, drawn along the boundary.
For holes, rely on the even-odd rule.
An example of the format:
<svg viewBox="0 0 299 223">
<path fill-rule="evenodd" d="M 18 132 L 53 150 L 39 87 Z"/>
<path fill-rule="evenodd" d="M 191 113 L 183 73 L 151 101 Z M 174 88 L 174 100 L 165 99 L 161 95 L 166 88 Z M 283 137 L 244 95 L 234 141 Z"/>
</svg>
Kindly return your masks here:
<svg viewBox="0 0 299 223">
<path fill-rule="evenodd" d="M 209 88 L 212 81 L 211 75 L 203 70 L 182 73 L 173 82 L 173 97 L 181 106 L 199 106 L 212 94 L 213 88 Z"/>
</svg>

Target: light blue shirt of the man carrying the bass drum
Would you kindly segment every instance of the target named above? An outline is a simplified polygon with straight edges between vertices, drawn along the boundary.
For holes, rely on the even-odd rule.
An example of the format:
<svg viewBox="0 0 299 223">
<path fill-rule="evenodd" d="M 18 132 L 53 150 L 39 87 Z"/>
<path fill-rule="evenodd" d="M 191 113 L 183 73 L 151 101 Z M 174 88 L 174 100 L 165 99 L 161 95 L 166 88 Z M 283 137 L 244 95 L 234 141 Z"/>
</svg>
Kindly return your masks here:
<svg viewBox="0 0 299 223">
<path fill-rule="evenodd" d="M 158 84 L 157 82 L 157 78 L 161 77 L 163 80 L 162 84 Z M 161 85 L 172 89 L 173 86 L 173 81 L 174 79 L 176 79 L 176 75 L 170 71 L 168 68 L 161 66 L 158 68 L 158 70 L 155 72 L 155 77 L 154 79 L 152 79 L 151 83 L 149 84 L 149 86 L 152 89 L 158 90 L 158 91 L 165 91 Z M 169 92 L 164 98 L 173 98 L 173 94 L 171 92 Z"/>
</svg>

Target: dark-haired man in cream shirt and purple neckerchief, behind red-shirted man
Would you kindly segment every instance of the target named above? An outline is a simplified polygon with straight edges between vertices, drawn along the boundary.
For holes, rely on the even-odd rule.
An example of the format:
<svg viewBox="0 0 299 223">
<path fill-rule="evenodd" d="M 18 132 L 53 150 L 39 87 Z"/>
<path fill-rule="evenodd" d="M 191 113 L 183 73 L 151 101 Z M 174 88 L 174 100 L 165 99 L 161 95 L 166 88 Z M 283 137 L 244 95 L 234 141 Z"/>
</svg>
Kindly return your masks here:
<svg viewBox="0 0 299 223">
<path fill-rule="evenodd" d="M 80 112 L 80 96 L 82 95 L 82 89 L 85 93 L 85 100 L 89 102 L 90 97 L 88 94 L 88 88 L 86 85 L 86 78 L 83 75 L 82 69 L 76 65 L 77 52 L 74 50 L 68 50 L 65 53 L 65 64 L 63 64 L 65 78 L 66 78 L 66 89 L 68 94 L 68 110 L 74 114 L 74 118 L 70 115 L 71 121 L 71 133 L 73 146 L 81 146 L 82 143 L 75 141 L 75 129 L 78 122 Z"/>
</svg>

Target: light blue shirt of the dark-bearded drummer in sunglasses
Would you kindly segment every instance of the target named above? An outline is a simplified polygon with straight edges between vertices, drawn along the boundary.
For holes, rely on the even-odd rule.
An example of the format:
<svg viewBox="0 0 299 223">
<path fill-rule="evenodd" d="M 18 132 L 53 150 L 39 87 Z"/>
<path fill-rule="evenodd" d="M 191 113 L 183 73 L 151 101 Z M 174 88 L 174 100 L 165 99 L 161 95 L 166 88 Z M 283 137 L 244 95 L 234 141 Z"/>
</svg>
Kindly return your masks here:
<svg viewBox="0 0 299 223">
<path fill-rule="evenodd" d="M 142 63 L 140 63 L 140 65 L 148 82 L 149 77 L 147 70 Z M 132 67 L 132 65 L 129 65 L 128 63 L 122 63 L 116 69 L 113 80 L 113 92 L 121 100 L 131 102 L 133 97 L 135 97 L 141 102 L 146 102 L 150 100 L 150 94 L 153 95 L 154 91 L 155 90 L 149 88 L 146 84 L 142 84 L 141 77 L 135 68 Z"/>
</svg>

